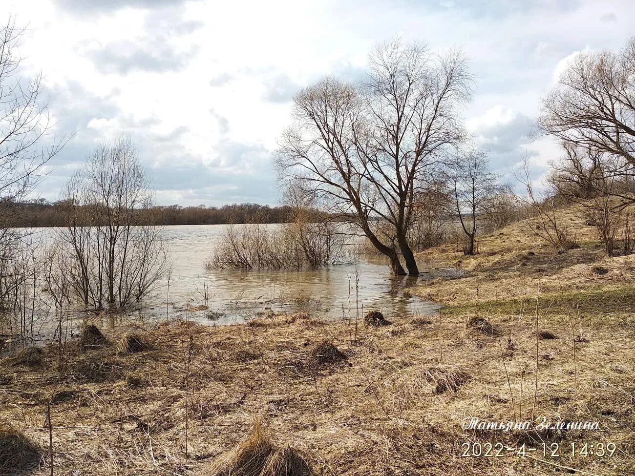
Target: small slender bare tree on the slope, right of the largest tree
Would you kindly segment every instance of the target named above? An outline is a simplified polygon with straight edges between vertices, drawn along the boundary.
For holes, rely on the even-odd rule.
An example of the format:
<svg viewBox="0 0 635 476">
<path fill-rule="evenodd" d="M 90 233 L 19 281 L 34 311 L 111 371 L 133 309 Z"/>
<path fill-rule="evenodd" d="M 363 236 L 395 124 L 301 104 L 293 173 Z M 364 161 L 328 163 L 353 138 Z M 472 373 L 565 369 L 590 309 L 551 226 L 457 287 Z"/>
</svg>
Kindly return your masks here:
<svg viewBox="0 0 635 476">
<path fill-rule="evenodd" d="M 448 209 L 458 217 L 465 235 L 465 255 L 476 253 L 474 242 L 478 232 L 478 215 L 504 189 L 498 183 L 500 175 L 489 171 L 489 162 L 485 152 L 469 149 L 458 154 L 445 168 L 448 194 L 451 197 Z"/>
</svg>

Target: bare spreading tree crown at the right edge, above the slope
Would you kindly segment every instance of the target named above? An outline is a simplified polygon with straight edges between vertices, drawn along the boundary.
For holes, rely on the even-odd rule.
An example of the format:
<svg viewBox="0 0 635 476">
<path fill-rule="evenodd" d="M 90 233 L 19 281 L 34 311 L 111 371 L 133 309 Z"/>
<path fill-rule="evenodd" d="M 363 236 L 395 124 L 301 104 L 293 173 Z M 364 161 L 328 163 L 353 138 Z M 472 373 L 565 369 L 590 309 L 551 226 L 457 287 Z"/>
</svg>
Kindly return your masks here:
<svg viewBox="0 0 635 476">
<path fill-rule="evenodd" d="M 620 53 L 580 53 L 544 98 L 538 128 L 635 166 L 635 37 Z"/>
</svg>

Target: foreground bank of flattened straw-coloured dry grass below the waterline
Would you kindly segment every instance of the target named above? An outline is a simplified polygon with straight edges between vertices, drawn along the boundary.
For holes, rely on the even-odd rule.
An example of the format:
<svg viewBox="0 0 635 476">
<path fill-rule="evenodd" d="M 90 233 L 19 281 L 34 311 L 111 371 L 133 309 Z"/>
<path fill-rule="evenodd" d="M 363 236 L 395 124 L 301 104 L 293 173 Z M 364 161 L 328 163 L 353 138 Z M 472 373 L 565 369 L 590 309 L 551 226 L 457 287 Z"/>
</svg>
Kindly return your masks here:
<svg viewBox="0 0 635 476">
<path fill-rule="evenodd" d="M 136 327 L 128 331 L 148 350 L 122 353 L 116 334 L 94 347 L 67 343 L 61 370 L 55 346 L 34 359 L 4 359 L 0 418 L 43 461 L 52 441 L 55 474 L 212 474 L 210 462 L 250 431 L 254 416 L 274 444 L 293 445 L 316 474 L 635 471 L 632 315 L 571 322 L 542 314 L 538 339 L 530 312 L 466 329 L 471 317 L 356 327 L 355 319 L 268 315 L 234 326 Z M 532 414 L 598 422 L 599 431 L 462 428 L 467 418 Z M 544 457 L 543 441 L 558 443 L 560 456 Z M 462 444 L 471 442 L 539 451 L 462 457 Z M 572 442 L 617 449 L 572 457 Z M 36 474 L 48 474 L 45 465 Z"/>
</svg>

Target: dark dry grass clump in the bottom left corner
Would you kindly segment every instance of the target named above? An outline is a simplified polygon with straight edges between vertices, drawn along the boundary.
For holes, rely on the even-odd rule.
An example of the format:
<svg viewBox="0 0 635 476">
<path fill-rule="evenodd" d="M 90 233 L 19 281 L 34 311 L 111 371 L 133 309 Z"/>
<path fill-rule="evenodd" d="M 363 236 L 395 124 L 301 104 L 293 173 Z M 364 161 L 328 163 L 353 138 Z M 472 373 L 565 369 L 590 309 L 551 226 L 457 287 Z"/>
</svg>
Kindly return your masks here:
<svg viewBox="0 0 635 476">
<path fill-rule="evenodd" d="M 0 423 L 0 474 L 32 470 L 40 459 L 36 444 L 8 423 Z"/>
</svg>

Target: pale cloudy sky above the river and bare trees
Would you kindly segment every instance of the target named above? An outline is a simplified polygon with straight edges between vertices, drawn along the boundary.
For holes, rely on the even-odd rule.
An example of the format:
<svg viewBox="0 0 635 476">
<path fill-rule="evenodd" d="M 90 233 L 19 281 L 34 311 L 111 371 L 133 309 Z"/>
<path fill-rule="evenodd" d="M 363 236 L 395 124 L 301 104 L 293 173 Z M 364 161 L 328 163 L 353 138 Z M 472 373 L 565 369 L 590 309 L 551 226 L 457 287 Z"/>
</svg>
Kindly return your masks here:
<svg viewBox="0 0 635 476">
<path fill-rule="evenodd" d="M 635 35 L 632 0 L 0 0 L 11 15 L 52 132 L 74 134 L 39 196 L 57 199 L 98 143 L 125 133 L 156 202 L 183 206 L 279 202 L 272 156 L 293 95 L 326 74 L 362 79 L 369 51 L 396 36 L 462 49 L 474 142 L 504 180 L 526 154 L 539 177 L 559 156 L 530 136 L 541 98 L 580 51 Z"/>
</svg>

